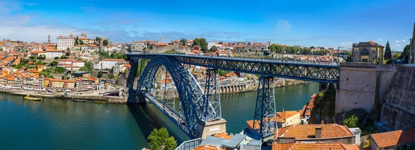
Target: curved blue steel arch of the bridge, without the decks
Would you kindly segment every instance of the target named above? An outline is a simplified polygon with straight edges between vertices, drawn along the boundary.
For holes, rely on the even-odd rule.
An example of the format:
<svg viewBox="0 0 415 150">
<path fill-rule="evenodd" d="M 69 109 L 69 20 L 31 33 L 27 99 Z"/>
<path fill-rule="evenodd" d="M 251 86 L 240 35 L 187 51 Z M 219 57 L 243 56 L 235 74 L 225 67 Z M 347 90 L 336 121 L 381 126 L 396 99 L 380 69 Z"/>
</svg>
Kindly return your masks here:
<svg viewBox="0 0 415 150">
<path fill-rule="evenodd" d="M 136 90 L 138 93 L 142 94 L 150 93 L 151 89 L 154 89 L 154 78 L 156 77 L 156 73 L 160 66 L 165 66 L 172 76 L 180 97 L 185 117 L 184 121 L 187 124 L 187 129 L 182 130 L 185 131 L 190 138 L 200 138 L 201 133 L 198 133 L 196 126 L 198 122 L 205 122 L 206 116 L 212 115 L 208 115 L 208 113 L 211 113 L 208 109 L 212 110 L 213 107 L 205 97 L 201 86 L 196 79 L 194 79 L 192 73 L 190 73 L 183 64 L 174 62 L 165 56 L 152 58 L 147 66 L 145 66 L 144 71 L 142 71 Z M 142 88 L 144 88 L 143 91 Z M 219 114 L 214 113 L 213 117 L 217 118 L 217 115 Z"/>
</svg>

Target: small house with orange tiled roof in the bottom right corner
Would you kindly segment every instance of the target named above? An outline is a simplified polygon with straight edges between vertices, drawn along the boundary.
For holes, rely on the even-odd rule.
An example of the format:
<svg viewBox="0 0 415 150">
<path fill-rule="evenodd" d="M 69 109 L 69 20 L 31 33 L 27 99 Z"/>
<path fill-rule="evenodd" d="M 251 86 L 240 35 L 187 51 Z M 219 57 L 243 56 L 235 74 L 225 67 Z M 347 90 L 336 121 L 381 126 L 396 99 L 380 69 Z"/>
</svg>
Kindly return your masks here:
<svg viewBox="0 0 415 150">
<path fill-rule="evenodd" d="M 414 149 L 415 129 L 374 133 L 370 135 L 370 149 Z"/>
</svg>

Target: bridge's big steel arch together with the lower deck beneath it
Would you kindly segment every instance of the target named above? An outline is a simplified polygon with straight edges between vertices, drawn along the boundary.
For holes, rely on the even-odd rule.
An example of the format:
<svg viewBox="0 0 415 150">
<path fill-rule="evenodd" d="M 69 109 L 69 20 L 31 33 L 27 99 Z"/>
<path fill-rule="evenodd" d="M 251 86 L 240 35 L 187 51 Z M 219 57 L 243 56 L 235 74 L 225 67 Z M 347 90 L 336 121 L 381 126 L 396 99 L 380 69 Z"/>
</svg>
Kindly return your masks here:
<svg viewBox="0 0 415 150">
<path fill-rule="evenodd" d="M 166 105 L 163 100 L 151 95 L 151 90 L 154 90 L 155 88 L 154 78 L 161 66 L 166 68 L 173 79 L 183 109 L 181 112 L 174 110 L 171 106 Z M 144 95 L 148 100 L 153 102 L 158 109 L 163 111 L 163 113 L 187 133 L 190 138 L 199 138 L 201 136 L 200 131 L 196 129 L 200 122 L 221 119 L 221 112 L 216 111 L 218 106 L 214 106 L 214 104 L 218 103 L 210 102 L 208 100 L 208 97 L 204 94 L 201 86 L 193 77 L 192 73 L 190 73 L 183 64 L 174 62 L 165 56 L 154 57 L 148 62 L 138 80 L 137 88 L 135 90 L 131 89 L 131 91 L 134 91 L 134 93 L 138 93 L 139 95 Z M 138 102 L 140 101 L 140 98 L 137 97 L 133 100 Z M 163 106 L 160 106 L 160 104 Z"/>
</svg>

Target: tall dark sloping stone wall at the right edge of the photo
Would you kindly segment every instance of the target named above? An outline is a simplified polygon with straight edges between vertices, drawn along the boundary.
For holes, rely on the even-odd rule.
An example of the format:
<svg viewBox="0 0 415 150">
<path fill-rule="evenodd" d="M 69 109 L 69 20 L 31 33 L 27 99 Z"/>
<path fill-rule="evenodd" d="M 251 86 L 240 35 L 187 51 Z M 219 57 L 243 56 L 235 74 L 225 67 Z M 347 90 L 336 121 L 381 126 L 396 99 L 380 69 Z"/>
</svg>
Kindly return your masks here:
<svg viewBox="0 0 415 150">
<path fill-rule="evenodd" d="M 415 128 L 415 66 L 399 66 L 382 100 L 381 129 Z"/>
</svg>

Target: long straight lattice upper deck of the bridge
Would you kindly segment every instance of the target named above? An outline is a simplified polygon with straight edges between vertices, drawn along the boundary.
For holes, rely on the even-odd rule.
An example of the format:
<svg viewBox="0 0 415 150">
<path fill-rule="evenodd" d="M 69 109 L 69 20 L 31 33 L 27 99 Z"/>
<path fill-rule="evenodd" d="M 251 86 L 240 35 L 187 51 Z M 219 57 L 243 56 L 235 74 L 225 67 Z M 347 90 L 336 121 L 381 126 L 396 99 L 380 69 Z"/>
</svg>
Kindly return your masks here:
<svg viewBox="0 0 415 150">
<path fill-rule="evenodd" d="M 131 54 L 130 58 L 152 59 L 163 54 Z M 174 62 L 269 77 L 284 77 L 320 83 L 339 83 L 340 68 L 327 64 L 273 62 L 272 59 L 233 59 L 196 55 L 163 55 Z M 264 69 L 263 69 L 264 68 Z"/>
</svg>

